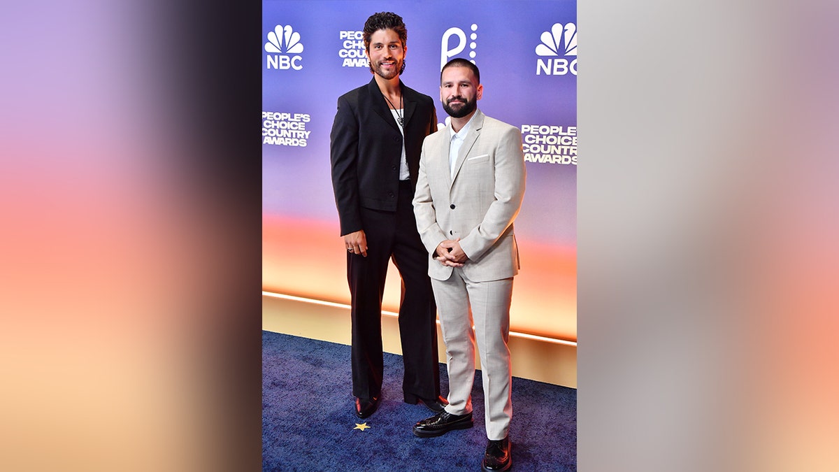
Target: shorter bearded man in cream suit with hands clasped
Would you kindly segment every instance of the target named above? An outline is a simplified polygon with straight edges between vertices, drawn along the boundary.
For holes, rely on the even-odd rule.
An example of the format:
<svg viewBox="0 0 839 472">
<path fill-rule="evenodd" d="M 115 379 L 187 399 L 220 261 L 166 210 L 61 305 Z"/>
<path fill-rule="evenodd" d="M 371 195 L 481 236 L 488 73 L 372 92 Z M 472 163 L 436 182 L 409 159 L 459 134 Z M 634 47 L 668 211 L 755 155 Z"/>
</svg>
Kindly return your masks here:
<svg viewBox="0 0 839 472">
<path fill-rule="evenodd" d="M 448 357 L 449 405 L 417 422 L 414 434 L 425 438 L 472 427 L 477 339 L 488 439 L 482 469 L 507 470 L 513 415 L 507 343 L 513 275 L 519 273 L 513 220 L 524 197 L 524 154 L 519 128 L 477 109 L 480 81 L 468 60 L 443 66 L 440 101 L 451 124 L 422 146 L 414 213 L 430 253 Z"/>
</svg>

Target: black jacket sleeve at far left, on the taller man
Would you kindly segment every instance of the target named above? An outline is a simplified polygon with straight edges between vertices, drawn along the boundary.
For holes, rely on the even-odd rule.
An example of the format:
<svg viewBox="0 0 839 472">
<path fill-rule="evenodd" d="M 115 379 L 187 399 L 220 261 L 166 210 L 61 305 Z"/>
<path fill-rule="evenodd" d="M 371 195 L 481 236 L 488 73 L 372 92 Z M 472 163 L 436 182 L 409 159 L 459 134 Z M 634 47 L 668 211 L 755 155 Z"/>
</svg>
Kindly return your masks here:
<svg viewBox="0 0 839 472">
<path fill-rule="evenodd" d="M 338 111 L 330 134 L 332 190 L 341 221 L 341 236 L 362 228 L 358 196 L 358 118 L 346 97 L 338 98 Z"/>
</svg>

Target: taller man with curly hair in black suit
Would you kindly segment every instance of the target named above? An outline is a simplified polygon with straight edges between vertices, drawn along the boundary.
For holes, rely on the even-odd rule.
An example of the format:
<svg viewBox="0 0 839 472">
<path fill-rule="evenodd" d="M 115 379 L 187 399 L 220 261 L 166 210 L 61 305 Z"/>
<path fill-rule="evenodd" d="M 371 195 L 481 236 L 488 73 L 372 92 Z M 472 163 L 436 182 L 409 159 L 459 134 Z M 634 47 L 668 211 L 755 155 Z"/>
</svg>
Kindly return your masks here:
<svg viewBox="0 0 839 472">
<path fill-rule="evenodd" d="M 437 129 L 431 97 L 405 87 L 408 31 L 395 13 L 364 24 L 373 80 L 338 98 L 330 135 L 332 187 L 347 248 L 352 296 L 352 394 L 356 414 L 369 417 L 381 398 L 382 295 L 388 260 L 402 277 L 399 335 L 404 401 L 442 412 L 428 254 L 417 233 L 414 198 L 425 136 Z"/>
</svg>

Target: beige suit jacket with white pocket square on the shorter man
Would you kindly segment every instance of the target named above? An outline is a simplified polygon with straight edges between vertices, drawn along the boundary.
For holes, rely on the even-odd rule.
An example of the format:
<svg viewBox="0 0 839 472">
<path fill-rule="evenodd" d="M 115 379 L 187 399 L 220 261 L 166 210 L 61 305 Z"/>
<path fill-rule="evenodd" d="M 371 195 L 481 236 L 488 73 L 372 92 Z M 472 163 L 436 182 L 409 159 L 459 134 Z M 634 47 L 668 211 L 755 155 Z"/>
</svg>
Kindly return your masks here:
<svg viewBox="0 0 839 472">
<path fill-rule="evenodd" d="M 513 220 L 524 198 L 521 132 L 481 110 L 470 128 L 454 178 L 449 165 L 451 124 L 427 136 L 420 155 L 414 213 L 430 253 L 429 275 L 440 281 L 452 270 L 434 259 L 437 245 L 446 239 L 461 239 L 469 258 L 463 273 L 471 281 L 497 281 L 519 273 Z"/>
</svg>

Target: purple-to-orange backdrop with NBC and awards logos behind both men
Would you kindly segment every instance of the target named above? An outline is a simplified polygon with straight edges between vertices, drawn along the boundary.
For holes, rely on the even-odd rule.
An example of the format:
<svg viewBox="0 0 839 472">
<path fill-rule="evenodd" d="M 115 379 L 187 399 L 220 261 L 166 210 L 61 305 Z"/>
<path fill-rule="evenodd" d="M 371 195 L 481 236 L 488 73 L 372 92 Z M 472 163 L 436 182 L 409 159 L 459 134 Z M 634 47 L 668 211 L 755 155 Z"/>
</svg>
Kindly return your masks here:
<svg viewBox="0 0 839 472">
<path fill-rule="evenodd" d="M 528 174 L 512 328 L 576 341 L 574 0 L 263 0 L 263 289 L 349 302 L 329 134 L 337 97 L 372 78 L 362 27 L 381 11 L 404 19 L 401 78 L 435 99 L 438 126 L 440 68 L 462 57 L 481 70 L 478 108 L 521 130 Z M 395 270 L 384 304 L 399 304 Z"/>
</svg>

